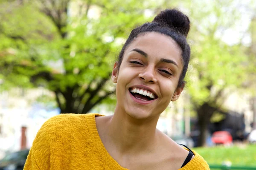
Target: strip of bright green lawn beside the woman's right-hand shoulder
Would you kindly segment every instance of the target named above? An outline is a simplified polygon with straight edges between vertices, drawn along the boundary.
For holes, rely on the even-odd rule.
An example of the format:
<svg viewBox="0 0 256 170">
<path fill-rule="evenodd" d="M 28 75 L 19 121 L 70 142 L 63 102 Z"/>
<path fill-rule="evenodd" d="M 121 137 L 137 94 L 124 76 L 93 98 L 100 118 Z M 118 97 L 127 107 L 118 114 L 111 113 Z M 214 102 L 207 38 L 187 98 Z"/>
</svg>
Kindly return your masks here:
<svg viewBox="0 0 256 170">
<path fill-rule="evenodd" d="M 233 147 L 195 147 L 208 164 L 222 164 L 223 161 L 231 161 L 232 166 L 256 167 L 256 144 Z"/>
</svg>

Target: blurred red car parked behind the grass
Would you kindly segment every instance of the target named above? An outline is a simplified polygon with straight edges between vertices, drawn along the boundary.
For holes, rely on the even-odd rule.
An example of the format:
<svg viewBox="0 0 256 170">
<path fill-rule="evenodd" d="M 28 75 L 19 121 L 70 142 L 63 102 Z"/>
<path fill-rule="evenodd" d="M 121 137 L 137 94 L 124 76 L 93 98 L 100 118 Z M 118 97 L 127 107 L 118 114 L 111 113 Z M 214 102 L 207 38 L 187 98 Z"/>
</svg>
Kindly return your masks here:
<svg viewBox="0 0 256 170">
<path fill-rule="evenodd" d="M 233 138 L 228 131 L 216 131 L 212 134 L 212 142 L 215 144 L 231 145 Z"/>
</svg>

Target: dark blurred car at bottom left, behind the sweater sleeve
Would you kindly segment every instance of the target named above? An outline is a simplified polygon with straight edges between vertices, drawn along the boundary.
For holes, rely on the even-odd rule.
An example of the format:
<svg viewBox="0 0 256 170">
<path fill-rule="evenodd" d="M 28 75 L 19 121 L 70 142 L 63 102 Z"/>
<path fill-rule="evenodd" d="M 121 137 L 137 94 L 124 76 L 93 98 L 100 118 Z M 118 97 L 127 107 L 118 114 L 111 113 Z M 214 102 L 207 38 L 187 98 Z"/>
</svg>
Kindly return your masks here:
<svg viewBox="0 0 256 170">
<path fill-rule="evenodd" d="M 0 160 L 0 170 L 23 170 L 29 149 L 7 154 Z"/>
</svg>

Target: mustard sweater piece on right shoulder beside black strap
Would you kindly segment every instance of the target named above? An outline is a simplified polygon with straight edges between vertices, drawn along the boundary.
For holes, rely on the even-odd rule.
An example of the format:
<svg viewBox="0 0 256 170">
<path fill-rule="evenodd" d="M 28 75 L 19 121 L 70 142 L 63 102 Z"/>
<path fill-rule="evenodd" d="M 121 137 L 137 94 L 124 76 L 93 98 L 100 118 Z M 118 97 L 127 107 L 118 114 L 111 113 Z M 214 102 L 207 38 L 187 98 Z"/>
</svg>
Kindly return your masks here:
<svg viewBox="0 0 256 170">
<path fill-rule="evenodd" d="M 192 150 L 192 152 L 194 153 L 195 157 L 191 159 L 184 167 L 180 168 L 179 170 L 209 170 L 210 169 L 209 165 L 204 160 L 204 158 L 194 150 Z"/>
</svg>

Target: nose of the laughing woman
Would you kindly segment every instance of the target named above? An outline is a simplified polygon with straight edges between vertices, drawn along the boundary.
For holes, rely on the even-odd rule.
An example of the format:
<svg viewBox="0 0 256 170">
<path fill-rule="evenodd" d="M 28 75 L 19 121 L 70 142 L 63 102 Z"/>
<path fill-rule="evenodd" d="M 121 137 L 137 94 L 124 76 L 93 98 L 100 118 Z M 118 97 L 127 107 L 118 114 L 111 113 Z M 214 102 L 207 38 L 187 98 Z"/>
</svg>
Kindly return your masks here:
<svg viewBox="0 0 256 170">
<path fill-rule="evenodd" d="M 157 79 L 155 76 L 154 67 L 147 67 L 140 72 L 139 78 L 147 83 L 156 83 Z"/>
</svg>

